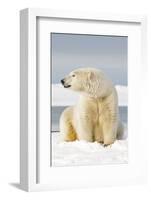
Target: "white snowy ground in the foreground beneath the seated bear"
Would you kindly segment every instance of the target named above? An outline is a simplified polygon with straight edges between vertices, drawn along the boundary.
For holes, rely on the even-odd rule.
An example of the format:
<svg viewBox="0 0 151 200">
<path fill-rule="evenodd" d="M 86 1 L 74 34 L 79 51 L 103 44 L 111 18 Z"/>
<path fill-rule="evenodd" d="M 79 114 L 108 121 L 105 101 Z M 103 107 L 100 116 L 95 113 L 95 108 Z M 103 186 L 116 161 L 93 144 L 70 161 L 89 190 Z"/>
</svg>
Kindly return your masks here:
<svg viewBox="0 0 151 200">
<path fill-rule="evenodd" d="M 128 163 L 128 140 L 116 140 L 103 147 L 97 142 L 60 142 L 60 133 L 52 133 L 52 166 L 80 166 Z M 127 135 L 127 127 L 125 133 Z"/>
</svg>

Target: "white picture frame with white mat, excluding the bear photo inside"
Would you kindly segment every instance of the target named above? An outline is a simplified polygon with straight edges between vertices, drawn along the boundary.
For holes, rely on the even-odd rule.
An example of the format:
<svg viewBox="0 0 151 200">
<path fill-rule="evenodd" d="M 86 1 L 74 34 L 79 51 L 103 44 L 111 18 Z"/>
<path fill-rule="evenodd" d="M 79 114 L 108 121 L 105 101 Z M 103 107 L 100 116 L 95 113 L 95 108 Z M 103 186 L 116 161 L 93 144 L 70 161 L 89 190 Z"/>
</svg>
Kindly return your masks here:
<svg viewBox="0 0 151 200">
<path fill-rule="evenodd" d="M 110 166 L 82 166 L 82 167 L 59 167 L 50 168 L 49 166 L 49 153 L 50 141 L 48 136 L 41 136 L 39 132 L 45 131 L 50 128 L 46 123 L 49 120 L 49 103 L 50 103 L 50 68 L 40 68 L 38 71 L 37 65 L 48 66 L 48 51 L 41 54 L 39 61 L 38 48 L 38 19 L 46 19 L 42 22 L 43 34 L 47 36 L 52 27 L 55 30 L 63 29 L 52 20 L 60 20 L 62 23 L 66 21 L 72 26 L 73 22 L 90 23 L 87 32 L 90 31 L 91 26 L 101 26 L 104 24 L 104 34 L 111 35 L 130 35 L 129 49 L 129 103 L 130 109 L 134 110 L 129 115 L 129 131 L 137 128 L 133 125 L 133 121 L 139 121 L 141 124 L 142 118 L 139 118 L 141 111 L 137 107 L 141 104 L 141 92 L 140 77 L 145 78 L 145 71 L 147 69 L 146 64 L 146 17 L 145 16 L 124 16 L 124 15 L 109 15 L 100 13 L 86 13 L 86 12 L 70 12 L 70 11 L 54 11 L 49 9 L 24 9 L 20 12 L 20 185 L 21 188 L 26 191 L 40 191 L 40 190 L 54 190 L 54 189 L 69 189 L 69 188 L 81 188 L 81 187 L 99 187 L 107 185 L 129 185 L 146 182 L 146 148 L 145 148 L 145 133 L 142 135 L 142 127 L 137 128 L 138 138 L 135 140 L 136 134 L 130 136 L 129 163 L 125 165 L 110 165 Z M 45 24 L 44 24 L 45 23 Z M 50 24 L 48 24 L 50 23 Z M 107 24 L 107 25 L 106 25 Z M 69 24 L 67 24 L 68 26 Z M 122 28 L 116 27 L 116 25 Z M 105 26 L 107 28 L 105 28 Z M 114 29 L 114 26 L 116 27 Z M 66 26 L 64 26 L 66 27 Z M 75 26 L 76 27 L 76 26 Z M 78 25 L 77 25 L 78 27 Z M 77 28 L 76 27 L 76 28 Z M 109 28 L 108 28 L 109 27 Z M 136 29 L 135 29 L 136 28 Z M 95 29 L 95 28 L 94 28 Z M 67 30 L 67 29 L 66 29 Z M 63 32 L 65 31 L 63 29 Z M 72 27 L 71 32 L 74 33 L 77 30 Z M 68 30 L 68 32 L 70 32 Z M 93 31 L 91 30 L 90 33 Z M 95 33 L 95 30 L 94 32 Z M 103 33 L 103 32 L 101 32 Z M 135 39 L 134 39 L 135 38 Z M 134 39 L 134 40 L 133 40 Z M 43 41 L 42 44 L 44 44 Z M 132 43 L 132 45 L 131 45 Z M 133 44 L 134 43 L 134 44 Z M 48 46 L 49 47 L 49 46 Z M 39 48 L 48 47 L 40 45 Z M 40 52 L 41 53 L 41 52 Z M 131 56 L 132 55 L 132 56 Z M 132 59 L 136 57 L 136 59 Z M 42 60 L 42 61 L 41 61 Z M 45 60 L 45 62 L 43 62 Z M 48 61 L 48 62 L 47 62 Z M 38 64 L 42 62 L 41 64 Z M 136 66 L 137 64 L 137 66 Z M 133 77 L 135 73 L 135 82 Z M 41 76 L 41 82 L 39 82 L 39 74 Z M 140 76 L 144 74 L 144 76 Z M 142 83 L 144 82 L 142 79 Z M 45 80 L 44 80 L 45 79 Z M 139 84 L 139 90 L 137 89 Z M 137 87 L 136 87 L 137 86 Z M 45 88 L 43 94 L 39 93 L 39 87 Z M 135 94 L 134 94 L 135 91 Z M 39 124 L 42 121 L 42 117 L 39 117 L 39 95 L 44 98 L 41 99 L 41 104 L 45 105 L 42 110 L 41 116 L 45 116 L 44 124 L 40 127 L 44 127 L 39 131 Z M 138 101 L 135 102 L 133 98 L 138 97 Z M 47 102 L 45 100 L 47 99 Z M 135 113 L 136 112 L 136 113 Z M 137 119 L 135 119 L 137 117 Z M 42 122 L 43 123 L 43 122 Z M 136 123 L 137 124 L 137 123 Z M 40 137 L 40 138 L 39 138 Z M 135 144 L 135 146 L 134 146 Z M 144 145 L 143 149 L 139 149 L 139 145 Z M 134 147 L 133 147 L 134 146 Z M 45 156 L 44 156 L 45 155 Z M 39 159 L 40 157 L 40 159 Z M 139 165 L 139 167 L 137 167 Z M 92 173 L 93 170 L 93 173 Z M 73 173 L 74 172 L 74 173 Z M 68 173 L 68 175 L 67 175 Z M 80 177 L 78 176 L 80 174 Z M 107 176 L 104 176 L 107 174 Z"/>
</svg>

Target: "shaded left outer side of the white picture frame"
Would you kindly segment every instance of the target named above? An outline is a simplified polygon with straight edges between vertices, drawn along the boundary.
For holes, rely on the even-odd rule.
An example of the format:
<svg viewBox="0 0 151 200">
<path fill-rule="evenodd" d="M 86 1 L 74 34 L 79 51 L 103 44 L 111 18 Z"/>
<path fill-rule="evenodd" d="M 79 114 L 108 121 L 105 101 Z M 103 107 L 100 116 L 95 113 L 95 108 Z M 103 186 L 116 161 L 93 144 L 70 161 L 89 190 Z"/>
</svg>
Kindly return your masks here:
<svg viewBox="0 0 151 200">
<path fill-rule="evenodd" d="M 28 9 L 20 11 L 20 186 L 28 191 Z"/>
</svg>

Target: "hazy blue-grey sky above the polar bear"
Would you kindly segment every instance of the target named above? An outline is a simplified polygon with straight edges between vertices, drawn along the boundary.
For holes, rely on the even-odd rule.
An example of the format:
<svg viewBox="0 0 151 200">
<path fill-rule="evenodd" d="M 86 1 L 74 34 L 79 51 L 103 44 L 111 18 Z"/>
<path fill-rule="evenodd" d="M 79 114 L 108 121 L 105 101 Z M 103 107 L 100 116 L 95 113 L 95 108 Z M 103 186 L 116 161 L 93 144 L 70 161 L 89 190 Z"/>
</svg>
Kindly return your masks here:
<svg viewBox="0 0 151 200">
<path fill-rule="evenodd" d="M 115 85 L 127 85 L 126 36 L 51 33 L 52 83 L 80 67 L 99 68 Z"/>
</svg>

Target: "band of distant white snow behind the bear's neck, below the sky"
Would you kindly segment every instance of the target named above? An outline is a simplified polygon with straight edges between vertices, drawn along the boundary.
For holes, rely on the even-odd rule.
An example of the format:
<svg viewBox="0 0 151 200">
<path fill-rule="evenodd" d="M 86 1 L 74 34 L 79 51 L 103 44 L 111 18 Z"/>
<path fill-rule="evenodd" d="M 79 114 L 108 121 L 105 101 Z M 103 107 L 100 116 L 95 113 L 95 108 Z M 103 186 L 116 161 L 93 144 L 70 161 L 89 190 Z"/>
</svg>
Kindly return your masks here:
<svg viewBox="0 0 151 200">
<path fill-rule="evenodd" d="M 127 105 L 127 86 L 116 85 L 119 106 Z M 70 106 L 78 100 L 79 94 L 64 88 L 61 84 L 52 84 L 52 106 Z"/>
</svg>

